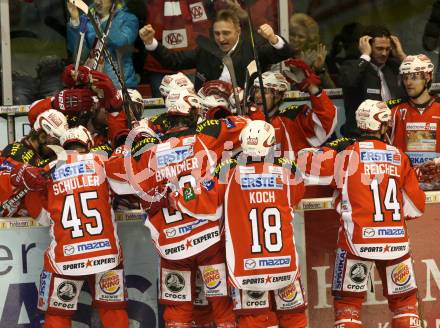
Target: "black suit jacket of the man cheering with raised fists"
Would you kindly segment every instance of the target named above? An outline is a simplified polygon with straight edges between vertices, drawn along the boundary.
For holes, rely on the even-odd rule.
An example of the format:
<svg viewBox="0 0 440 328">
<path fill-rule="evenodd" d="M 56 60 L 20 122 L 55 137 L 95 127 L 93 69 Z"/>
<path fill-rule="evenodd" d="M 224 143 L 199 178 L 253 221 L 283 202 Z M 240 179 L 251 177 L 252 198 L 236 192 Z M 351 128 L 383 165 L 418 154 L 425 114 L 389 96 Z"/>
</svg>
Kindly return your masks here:
<svg viewBox="0 0 440 328">
<path fill-rule="evenodd" d="M 210 42 L 213 43 L 213 47 L 217 47 L 214 41 L 210 40 Z M 263 71 L 267 70 L 269 65 L 279 63 L 291 56 L 291 48 L 286 40 L 284 42 L 284 47 L 279 50 L 272 47 L 269 42 L 257 46 Z M 205 81 L 217 80 L 223 71 L 221 59 L 200 47 L 194 50 L 171 52 L 159 43 L 156 50 L 151 53 L 165 68 L 175 71 L 195 68 L 194 87 L 196 90 L 200 89 Z M 247 65 L 254 59 L 251 42 L 240 37 L 237 47 L 231 53 L 231 58 L 234 63 L 237 84 L 243 88 Z"/>
</svg>

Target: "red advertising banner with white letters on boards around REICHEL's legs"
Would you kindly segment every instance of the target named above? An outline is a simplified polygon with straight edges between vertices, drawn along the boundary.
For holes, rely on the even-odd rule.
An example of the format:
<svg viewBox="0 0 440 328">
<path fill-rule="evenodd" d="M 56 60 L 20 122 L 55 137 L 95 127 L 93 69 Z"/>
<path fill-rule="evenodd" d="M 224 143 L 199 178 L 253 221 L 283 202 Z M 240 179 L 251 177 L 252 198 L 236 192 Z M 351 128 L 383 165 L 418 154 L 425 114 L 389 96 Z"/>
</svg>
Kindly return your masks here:
<svg viewBox="0 0 440 328">
<path fill-rule="evenodd" d="M 411 252 L 426 327 L 440 328 L 440 204 L 427 204 L 425 214 L 408 221 Z M 309 327 L 333 327 L 331 283 L 338 231 L 333 209 L 306 211 L 305 237 Z M 372 283 L 371 283 L 372 282 Z M 373 285 L 373 286 L 371 286 Z M 391 328 L 392 313 L 382 294 L 379 274 L 371 275 L 362 308 L 362 322 L 368 328 Z"/>
</svg>

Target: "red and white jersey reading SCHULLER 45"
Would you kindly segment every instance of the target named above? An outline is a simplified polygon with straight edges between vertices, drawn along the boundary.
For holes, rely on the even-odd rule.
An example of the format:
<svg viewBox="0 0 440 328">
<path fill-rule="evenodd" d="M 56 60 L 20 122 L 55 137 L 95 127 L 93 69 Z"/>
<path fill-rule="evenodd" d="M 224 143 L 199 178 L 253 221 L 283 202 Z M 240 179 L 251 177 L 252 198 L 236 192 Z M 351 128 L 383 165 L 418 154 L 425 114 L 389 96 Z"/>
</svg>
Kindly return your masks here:
<svg viewBox="0 0 440 328">
<path fill-rule="evenodd" d="M 65 163 L 57 163 L 47 187 L 51 243 L 45 269 L 77 276 L 116 267 L 122 253 L 101 157 L 69 153 Z"/>
</svg>

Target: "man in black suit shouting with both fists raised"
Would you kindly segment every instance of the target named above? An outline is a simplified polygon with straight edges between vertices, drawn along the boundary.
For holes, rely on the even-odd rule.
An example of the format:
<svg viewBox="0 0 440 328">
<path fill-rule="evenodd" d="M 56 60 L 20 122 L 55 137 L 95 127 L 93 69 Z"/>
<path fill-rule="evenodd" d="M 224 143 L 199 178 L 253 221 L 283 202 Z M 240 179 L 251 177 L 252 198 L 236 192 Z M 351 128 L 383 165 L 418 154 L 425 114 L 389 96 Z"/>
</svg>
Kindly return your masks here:
<svg viewBox="0 0 440 328">
<path fill-rule="evenodd" d="M 211 43 L 206 48 L 197 47 L 194 50 L 179 51 L 171 53 L 154 38 L 155 30 L 153 26 L 146 25 L 140 29 L 139 35 L 144 41 L 146 49 L 167 68 L 173 70 L 196 68 L 195 88 L 198 90 L 202 84 L 210 80 L 223 80 L 231 82 L 228 69 L 222 64 L 223 55 L 231 55 L 237 84 L 244 86 L 247 65 L 253 60 L 253 50 L 251 42 L 241 35 L 240 20 L 238 16 L 230 10 L 219 11 L 213 24 L 215 43 Z M 291 55 L 288 43 L 277 36 L 272 27 L 263 24 L 259 27 L 258 33 L 268 42 L 259 46 L 259 58 L 262 67 L 269 64 L 280 62 Z M 209 49 L 208 49 L 209 47 Z M 215 53 L 216 56 L 213 54 Z"/>
</svg>

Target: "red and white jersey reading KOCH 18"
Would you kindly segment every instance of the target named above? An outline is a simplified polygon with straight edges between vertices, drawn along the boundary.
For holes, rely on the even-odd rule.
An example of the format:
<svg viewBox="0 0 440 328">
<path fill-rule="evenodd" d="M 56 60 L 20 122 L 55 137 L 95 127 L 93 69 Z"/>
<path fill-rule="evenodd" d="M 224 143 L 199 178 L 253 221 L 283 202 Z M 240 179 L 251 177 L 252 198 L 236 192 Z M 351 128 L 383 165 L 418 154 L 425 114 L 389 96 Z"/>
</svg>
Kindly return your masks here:
<svg viewBox="0 0 440 328">
<path fill-rule="evenodd" d="M 178 207 L 197 217 L 223 215 L 229 280 L 240 289 L 275 290 L 298 273 L 293 212 L 304 193 L 295 164 L 230 159 L 200 190 L 183 188 Z"/>
</svg>

